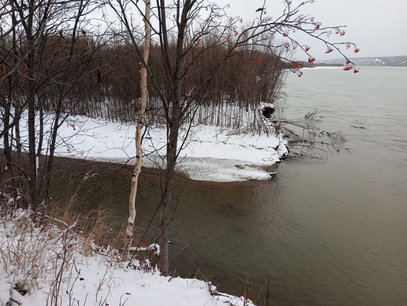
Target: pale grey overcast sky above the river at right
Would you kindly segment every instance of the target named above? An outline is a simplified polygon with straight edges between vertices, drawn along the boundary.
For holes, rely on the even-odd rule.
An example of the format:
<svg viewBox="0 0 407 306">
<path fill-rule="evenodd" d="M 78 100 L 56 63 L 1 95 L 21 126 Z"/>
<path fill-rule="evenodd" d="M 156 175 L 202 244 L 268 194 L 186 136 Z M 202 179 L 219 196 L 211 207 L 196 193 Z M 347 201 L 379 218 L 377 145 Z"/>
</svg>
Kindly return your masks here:
<svg viewBox="0 0 407 306">
<path fill-rule="evenodd" d="M 215 0 L 220 5 L 230 4 L 228 13 L 252 20 L 258 13 L 255 10 L 263 6 L 263 0 Z M 293 6 L 301 1 L 293 0 Z M 266 0 L 267 13 L 272 17 L 281 15 L 282 0 Z M 345 41 L 357 44 L 360 57 L 407 55 L 407 1 L 405 0 L 317 0 L 304 6 L 303 14 L 310 14 L 323 26 L 347 25 Z M 338 58 L 340 54 L 325 54 L 326 47 L 316 44 L 312 39 L 302 42 L 311 46 L 316 59 Z M 356 54 L 346 50 L 352 57 Z M 298 59 L 307 56 L 297 53 Z"/>
</svg>

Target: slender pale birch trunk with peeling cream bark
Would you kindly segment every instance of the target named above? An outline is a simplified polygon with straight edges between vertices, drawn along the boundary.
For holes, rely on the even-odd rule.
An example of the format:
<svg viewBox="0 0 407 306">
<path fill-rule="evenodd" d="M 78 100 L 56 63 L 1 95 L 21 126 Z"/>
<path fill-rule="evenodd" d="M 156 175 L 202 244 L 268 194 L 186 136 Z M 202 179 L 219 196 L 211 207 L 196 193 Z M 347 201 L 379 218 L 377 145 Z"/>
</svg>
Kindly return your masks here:
<svg viewBox="0 0 407 306">
<path fill-rule="evenodd" d="M 144 39 L 144 63 L 148 63 L 149 55 L 150 55 L 150 39 L 151 39 L 151 30 L 150 30 L 150 0 L 146 1 L 146 13 L 144 15 L 144 29 L 146 33 L 146 38 Z M 138 175 L 141 172 L 141 161 L 143 156 L 143 151 L 141 148 L 141 132 L 144 125 L 144 113 L 146 112 L 146 105 L 147 105 L 147 69 L 144 65 L 141 67 L 141 99 L 140 99 L 140 109 L 138 110 L 138 120 L 137 120 L 137 130 L 136 130 L 136 163 L 134 165 L 133 175 L 131 178 L 131 192 L 129 198 L 129 213 L 130 217 L 127 222 L 127 228 L 124 235 L 124 248 L 123 248 L 123 261 L 128 260 L 128 252 L 127 250 L 131 247 L 132 237 L 133 237 L 133 224 L 134 220 L 136 219 L 136 193 L 137 193 L 137 180 Z"/>
</svg>

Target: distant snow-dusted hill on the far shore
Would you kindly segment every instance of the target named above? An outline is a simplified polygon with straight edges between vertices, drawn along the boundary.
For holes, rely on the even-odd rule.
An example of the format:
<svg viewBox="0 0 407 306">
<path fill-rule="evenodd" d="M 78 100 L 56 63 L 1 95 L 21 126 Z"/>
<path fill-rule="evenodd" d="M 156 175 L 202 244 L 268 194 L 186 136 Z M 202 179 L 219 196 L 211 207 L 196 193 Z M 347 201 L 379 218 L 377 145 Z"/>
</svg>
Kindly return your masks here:
<svg viewBox="0 0 407 306">
<path fill-rule="evenodd" d="M 407 55 L 402 56 L 383 56 L 383 57 L 350 57 L 356 66 L 391 66 L 391 67 L 407 67 Z M 316 60 L 315 64 L 345 64 L 343 58 Z"/>
</svg>

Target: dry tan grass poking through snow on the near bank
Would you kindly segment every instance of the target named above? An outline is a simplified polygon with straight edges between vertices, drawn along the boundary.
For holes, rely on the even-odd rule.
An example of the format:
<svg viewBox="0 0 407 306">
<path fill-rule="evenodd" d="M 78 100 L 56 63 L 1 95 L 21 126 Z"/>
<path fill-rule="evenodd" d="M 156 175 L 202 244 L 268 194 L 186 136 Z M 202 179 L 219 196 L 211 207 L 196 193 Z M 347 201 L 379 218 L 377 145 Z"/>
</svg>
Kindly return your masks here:
<svg viewBox="0 0 407 306">
<path fill-rule="evenodd" d="M 13 200 L 2 193 L 0 274 L 6 273 L 20 294 L 49 290 L 47 305 L 61 304 L 62 290 L 73 288 L 87 256 L 102 252 L 103 258 L 120 262 L 116 247 L 121 233 L 111 231 L 109 213 L 81 212 L 77 191 L 64 208 L 52 203 L 38 211 L 13 210 Z"/>
</svg>

